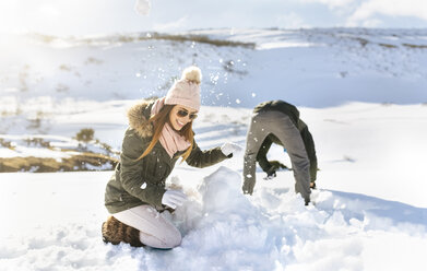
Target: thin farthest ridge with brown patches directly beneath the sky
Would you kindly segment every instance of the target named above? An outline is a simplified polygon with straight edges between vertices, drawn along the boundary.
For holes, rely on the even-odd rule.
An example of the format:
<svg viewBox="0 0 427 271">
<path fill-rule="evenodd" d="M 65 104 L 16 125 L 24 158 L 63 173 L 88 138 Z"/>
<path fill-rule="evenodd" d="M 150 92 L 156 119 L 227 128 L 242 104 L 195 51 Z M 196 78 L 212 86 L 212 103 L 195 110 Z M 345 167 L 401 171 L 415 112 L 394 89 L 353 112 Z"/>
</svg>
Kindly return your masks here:
<svg viewBox="0 0 427 271">
<path fill-rule="evenodd" d="M 408 48 L 427 48 L 427 30 L 425 28 L 299 28 L 299 30 L 194 30 L 178 33 L 140 32 L 117 33 L 86 36 L 54 36 L 28 33 L 25 36 L 45 44 L 67 42 L 74 45 L 105 45 L 115 43 L 135 43 L 150 39 L 206 43 L 214 46 L 242 46 L 254 48 L 257 45 L 273 40 L 306 39 L 307 42 L 356 40 L 361 46 L 377 44 L 388 48 L 404 46 Z M 330 39 L 330 42 L 328 42 Z"/>
</svg>

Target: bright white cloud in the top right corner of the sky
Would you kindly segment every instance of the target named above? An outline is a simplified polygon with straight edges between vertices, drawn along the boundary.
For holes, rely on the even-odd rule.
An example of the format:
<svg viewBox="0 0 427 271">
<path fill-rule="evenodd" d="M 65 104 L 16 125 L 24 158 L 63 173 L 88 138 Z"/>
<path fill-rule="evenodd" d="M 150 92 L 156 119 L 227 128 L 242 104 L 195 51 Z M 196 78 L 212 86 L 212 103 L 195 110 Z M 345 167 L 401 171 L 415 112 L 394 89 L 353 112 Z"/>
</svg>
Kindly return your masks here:
<svg viewBox="0 0 427 271">
<path fill-rule="evenodd" d="M 347 20 L 348 26 L 364 25 L 376 15 L 408 16 L 427 21 L 427 1 L 424 0 L 368 0 L 361 3 Z"/>
</svg>

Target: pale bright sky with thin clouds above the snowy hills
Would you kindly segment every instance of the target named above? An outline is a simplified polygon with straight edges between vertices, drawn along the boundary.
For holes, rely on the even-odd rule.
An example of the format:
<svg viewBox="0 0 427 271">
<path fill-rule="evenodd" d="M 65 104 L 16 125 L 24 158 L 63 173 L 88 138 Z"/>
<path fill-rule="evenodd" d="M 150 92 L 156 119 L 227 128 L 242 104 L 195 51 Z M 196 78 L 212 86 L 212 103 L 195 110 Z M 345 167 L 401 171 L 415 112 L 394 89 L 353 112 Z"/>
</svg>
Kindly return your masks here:
<svg viewBox="0 0 427 271">
<path fill-rule="evenodd" d="M 90 35 L 215 27 L 427 27 L 426 0 L 1 0 L 0 32 Z"/>
</svg>

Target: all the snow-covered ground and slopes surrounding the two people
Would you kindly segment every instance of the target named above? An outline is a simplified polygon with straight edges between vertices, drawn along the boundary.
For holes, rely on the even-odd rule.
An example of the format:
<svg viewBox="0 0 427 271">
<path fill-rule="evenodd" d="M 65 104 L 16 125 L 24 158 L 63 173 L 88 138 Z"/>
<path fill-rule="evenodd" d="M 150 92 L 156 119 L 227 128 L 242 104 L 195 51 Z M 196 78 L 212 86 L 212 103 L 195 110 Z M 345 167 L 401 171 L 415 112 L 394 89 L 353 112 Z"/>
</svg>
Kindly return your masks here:
<svg viewBox="0 0 427 271">
<path fill-rule="evenodd" d="M 312 204 L 295 195 L 292 172 L 264 180 L 259 170 L 254 195 L 244 196 L 242 153 L 203 169 L 177 164 L 168 181 L 190 198 L 170 217 L 182 245 L 131 248 L 100 238 L 111 172 L 2 173 L 0 270 L 426 270 L 426 32 L 204 32 L 257 46 L 25 37 L 21 57 L 0 50 L 1 138 L 71 144 L 93 128 L 119 149 L 126 108 L 163 95 L 195 62 L 204 71 L 194 121 L 202 149 L 245 145 L 261 101 L 298 105 L 319 158 Z M 11 152 L 0 146 L 2 157 Z M 269 155 L 289 165 L 278 146 Z"/>
</svg>

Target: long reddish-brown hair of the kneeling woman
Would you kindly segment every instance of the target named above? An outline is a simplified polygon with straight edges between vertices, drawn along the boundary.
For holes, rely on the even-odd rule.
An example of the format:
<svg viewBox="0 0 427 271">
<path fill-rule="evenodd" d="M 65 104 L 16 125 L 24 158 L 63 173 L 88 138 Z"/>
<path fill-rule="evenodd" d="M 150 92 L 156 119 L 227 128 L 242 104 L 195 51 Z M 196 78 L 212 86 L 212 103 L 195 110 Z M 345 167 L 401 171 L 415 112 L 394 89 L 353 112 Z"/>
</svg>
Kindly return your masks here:
<svg viewBox="0 0 427 271">
<path fill-rule="evenodd" d="M 169 121 L 169 114 L 175 105 L 164 105 L 162 109 L 150 117 L 149 122 L 153 125 L 153 138 L 149 144 L 149 146 L 145 149 L 145 151 L 141 154 L 141 156 L 138 160 L 142 160 L 154 148 L 154 145 L 157 143 L 158 139 L 161 138 L 163 127 L 166 125 L 166 122 Z M 192 121 L 188 122 L 186 126 L 182 127 L 181 130 L 177 131 L 180 136 L 185 137 L 185 139 L 191 143 L 191 145 L 187 149 L 187 151 L 181 155 L 182 161 L 187 160 L 188 156 L 190 156 L 191 150 L 193 148 L 193 138 L 194 132 L 192 130 Z"/>
</svg>

